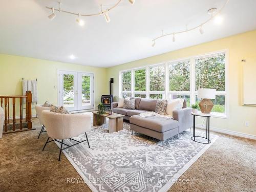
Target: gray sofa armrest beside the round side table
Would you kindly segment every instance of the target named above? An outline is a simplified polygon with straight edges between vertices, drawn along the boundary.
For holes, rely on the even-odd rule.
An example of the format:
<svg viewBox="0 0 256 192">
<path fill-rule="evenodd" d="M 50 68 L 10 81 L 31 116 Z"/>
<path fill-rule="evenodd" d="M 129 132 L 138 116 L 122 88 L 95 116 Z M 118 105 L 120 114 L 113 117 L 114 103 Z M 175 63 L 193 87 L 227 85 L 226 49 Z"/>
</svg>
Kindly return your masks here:
<svg viewBox="0 0 256 192">
<path fill-rule="evenodd" d="M 191 115 L 191 112 L 191 108 L 183 108 L 173 111 L 173 118 L 179 121 L 179 133 L 193 126 L 193 117 Z"/>
</svg>

